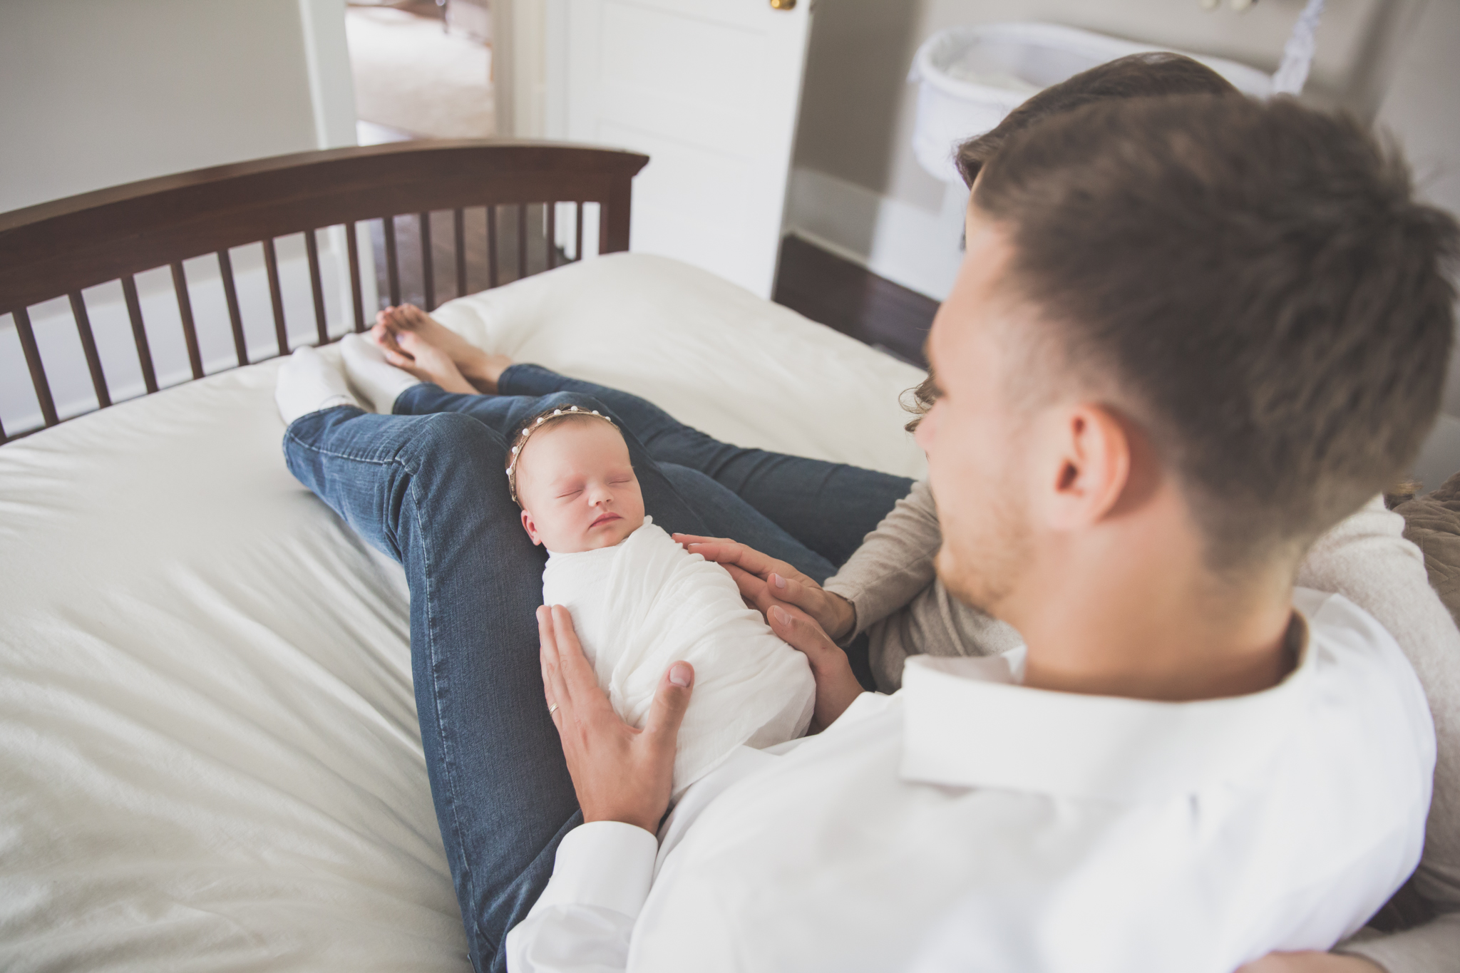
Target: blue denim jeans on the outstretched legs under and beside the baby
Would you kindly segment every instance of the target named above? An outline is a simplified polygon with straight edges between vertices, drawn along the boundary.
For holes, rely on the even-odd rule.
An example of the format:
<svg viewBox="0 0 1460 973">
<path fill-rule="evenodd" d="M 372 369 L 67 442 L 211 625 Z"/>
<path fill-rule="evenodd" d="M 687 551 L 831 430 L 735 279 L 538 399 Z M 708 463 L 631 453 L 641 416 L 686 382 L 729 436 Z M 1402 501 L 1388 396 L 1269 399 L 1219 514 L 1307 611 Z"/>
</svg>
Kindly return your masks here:
<svg viewBox="0 0 1460 973">
<path fill-rule="evenodd" d="M 511 430 L 545 408 L 604 411 L 625 433 L 656 524 L 736 537 L 818 581 L 911 487 L 901 477 L 727 446 L 634 395 L 536 366 L 512 366 L 501 388 L 453 395 L 418 385 L 394 416 L 328 408 L 291 425 L 283 443 L 299 481 L 406 570 L 431 795 L 472 964 L 493 972 L 507 969 L 507 932 L 548 884 L 558 842 L 583 820 L 543 703 L 534 610 L 546 554 L 527 538 L 507 490 Z M 758 511 L 736 486 L 769 509 Z M 796 522 L 775 499 L 788 493 L 794 511 L 807 495 L 837 490 L 850 493 L 841 531 L 825 511 Z"/>
</svg>

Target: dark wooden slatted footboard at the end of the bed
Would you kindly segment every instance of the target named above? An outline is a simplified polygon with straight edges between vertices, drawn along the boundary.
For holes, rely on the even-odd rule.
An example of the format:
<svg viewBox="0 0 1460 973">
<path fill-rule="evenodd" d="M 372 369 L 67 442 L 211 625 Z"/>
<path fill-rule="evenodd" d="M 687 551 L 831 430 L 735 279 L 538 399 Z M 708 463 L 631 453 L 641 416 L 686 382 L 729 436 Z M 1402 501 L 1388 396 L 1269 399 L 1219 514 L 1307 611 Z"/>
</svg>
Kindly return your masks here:
<svg viewBox="0 0 1460 973">
<path fill-rule="evenodd" d="M 385 290 L 400 303 L 400 264 L 394 217 L 418 220 L 423 286 L 428 311 L 435 305 L 432 273 L 431 213 L 450 210 L 456 255 L 457 293 L 466 292 L 463 210 L 488 207 L 491 276 L 498 283 L 496 228 L 501 216 L 515 217 L 515 261 L 512 277 L 529 273 L 527 212 L 536 206 L 546 229 L 537 229 L 546 260 L 537 268 L 561 263 L 555 245 L 555 204 L 577 204 L 577 245 L 572 258 L 583 257 L 584 204 L 599 204 L 597 251 L 628 249 L 629 201 L 634 175 L 647 156 L 584 146 L 498 140 L 406 142 L 384 146 L 330 149 L 258 159 L 238 165 L 197 169 L 178 175 L 131 182 L 95 193 L 0 213 L 0 315 L 10 314 L 20 350 L 35 388 L 44 426 L 60 422 L 55 413 L 45 363 L 35 341 L 29 308 L 44 301 L 69 298 L 98 407 L 111 404 L 111 389 L 96 352 L 86 314 L 85 287 L 121 282 L 127 315 L 136 341 L 146 392 L 158 381 L 137 299 L 134 276 L 158 267 L 172 271 L 172 290 L 187 343 L 193 378 L 203 378 L 196 322 L 182 261 L 216 254 L 228 298 L 238 365 L 250 359 L 234 287 L 229 248 L 263 244 L 273 305 L 277 352 L 291 350 L 285 325 L 274 239 L 304 233 L 310 283 L 314 296 L 317 341 L 330 341 L 326 324 L 317 232 L 345 226 L 349 252 L 353 328 L 362 331 L 374 308 L 362 303 L 361 260 L 356 223 L 381 219 L 384 233 Z M 498 207 L 515 207 L 499 213 Z M 510 222 L 508 226 L 512 226 Z M 439 238 L 438 238 L 439 242 Z M 298 344 L 298 343 L 296 343 Z M 273 357 L 266 354 L 263 357 Z M 44 427 L 42 426 L 42 427 Z M 34 430 L 6 433 L 0 443 Z"/>
</svg>

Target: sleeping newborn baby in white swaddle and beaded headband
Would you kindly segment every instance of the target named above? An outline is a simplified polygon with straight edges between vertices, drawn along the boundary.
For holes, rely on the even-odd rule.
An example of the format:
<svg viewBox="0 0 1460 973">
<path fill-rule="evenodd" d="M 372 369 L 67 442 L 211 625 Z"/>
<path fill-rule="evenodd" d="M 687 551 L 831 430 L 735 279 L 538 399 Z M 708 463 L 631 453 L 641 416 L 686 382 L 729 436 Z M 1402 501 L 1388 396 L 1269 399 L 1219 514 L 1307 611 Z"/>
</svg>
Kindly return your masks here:
<svg viewBox="0 0 1460 973">
<path fill-rule="evenodd" d="M 724 567 L 644 516 L 612 420 L 577 407 L 534 419 L 517 435 L 507 481 L 527 535 L 548 548 L 543 604 L 572 614 L 599 686 L 625 722 L 644 726 L 672 662 L 695 667 L 676 795 L 740 744 L 769 747 L 806 732 L 816 702 L 806 656 L 745 607 Z"/>
</svg>

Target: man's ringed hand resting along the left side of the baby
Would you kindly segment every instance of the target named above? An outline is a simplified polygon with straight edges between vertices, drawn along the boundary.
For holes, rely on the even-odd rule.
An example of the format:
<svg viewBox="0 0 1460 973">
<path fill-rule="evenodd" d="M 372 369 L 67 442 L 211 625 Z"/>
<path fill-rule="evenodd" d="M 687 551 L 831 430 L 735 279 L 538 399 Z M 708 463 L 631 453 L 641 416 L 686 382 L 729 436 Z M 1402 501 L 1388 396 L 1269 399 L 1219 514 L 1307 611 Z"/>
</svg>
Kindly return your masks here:
<svg viewBox="0 0 1460 973">
<path fill-rule="evenodd" d="M 669 667 L 644 729 L 635 729 L 619 719 L 599 689 L 566 608 L 537 608 L 537 637 L 543 693 L 562 740 L 583 820 L 637 824 L 653 834 L 669 810 L 675 738 L 689 709 L 694 667 L 689 662 Z"/>
</svg>

